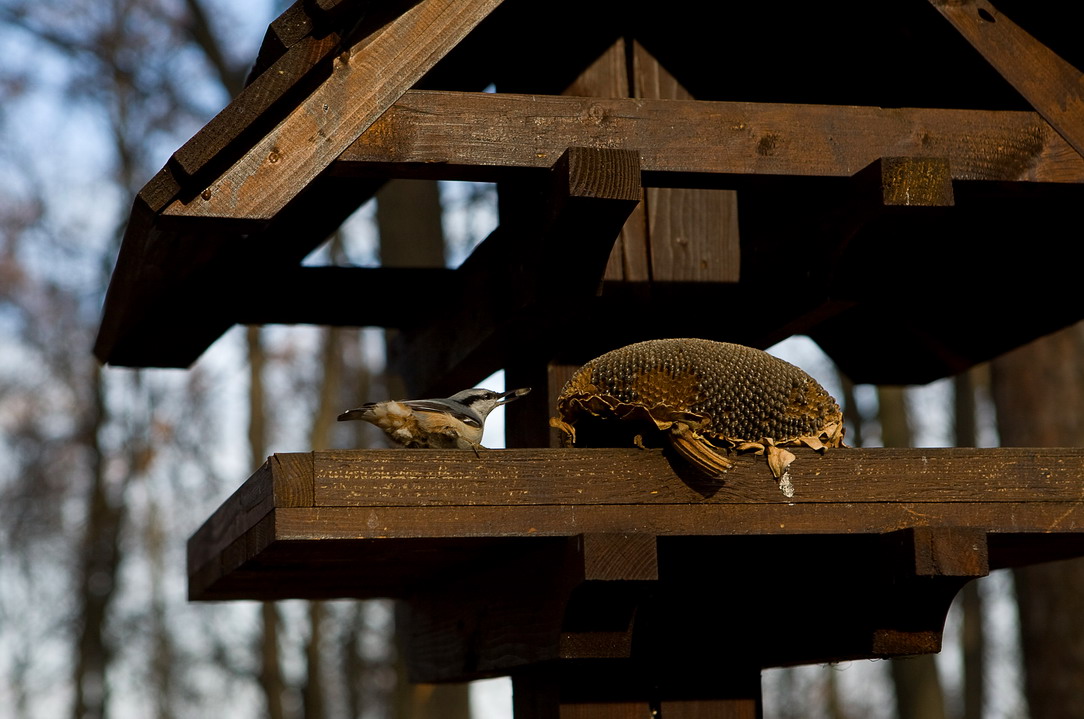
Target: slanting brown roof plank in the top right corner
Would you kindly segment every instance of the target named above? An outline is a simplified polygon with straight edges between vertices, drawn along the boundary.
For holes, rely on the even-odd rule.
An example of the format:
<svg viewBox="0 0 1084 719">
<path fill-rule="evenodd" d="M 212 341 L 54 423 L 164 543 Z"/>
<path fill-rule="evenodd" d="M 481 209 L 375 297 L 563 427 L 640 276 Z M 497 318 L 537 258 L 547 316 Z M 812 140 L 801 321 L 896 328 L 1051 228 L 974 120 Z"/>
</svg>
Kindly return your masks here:
<svg viewBox="0 0 1084 719">
<path fill-rule="evenodd" d="M 1084 155 L 1084 74 L 986 0 L 930 0 L 1054 129 Z"/>
</svg>

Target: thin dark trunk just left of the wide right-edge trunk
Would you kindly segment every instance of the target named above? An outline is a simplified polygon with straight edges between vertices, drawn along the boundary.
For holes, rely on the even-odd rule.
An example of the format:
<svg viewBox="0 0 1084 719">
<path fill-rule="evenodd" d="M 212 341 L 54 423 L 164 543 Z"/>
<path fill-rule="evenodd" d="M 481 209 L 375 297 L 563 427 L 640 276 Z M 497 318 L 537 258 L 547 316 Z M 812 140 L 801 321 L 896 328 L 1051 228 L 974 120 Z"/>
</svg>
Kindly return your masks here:
<svg viewBox="0 0 1084 719">
<path fill-rule="evenodd" d="M 953 381 L 957 447 L 979 444 L 975 393 L 981 370 L 972 368 Z M 982 594 L 979 582 L 968 582 L 960 592 L 960 645 L 964 658 L 964 719 L 982 719 L 985 681 L 985 638 L 982 633 Z"/>
</svg>

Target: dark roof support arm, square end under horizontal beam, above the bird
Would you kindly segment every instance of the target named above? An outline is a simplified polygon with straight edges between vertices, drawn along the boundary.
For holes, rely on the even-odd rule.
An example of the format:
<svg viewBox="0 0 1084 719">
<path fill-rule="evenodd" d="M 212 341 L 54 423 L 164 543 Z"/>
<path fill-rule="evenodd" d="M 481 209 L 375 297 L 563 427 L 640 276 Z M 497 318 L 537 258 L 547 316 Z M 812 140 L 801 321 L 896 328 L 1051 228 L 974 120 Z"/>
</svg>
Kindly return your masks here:
<svg viewBox="0 0 1084 719">
<path fill-rule="evenodd" d="M 569 147 L 540 180 L 519 222 L 498 228 L 456 270 L 460 293 L 442 298 L 442 320 L 400 333 L 396 370 L 411 395 L 457 391 L 513 350 L 539 350 L 566 312 L 597 293 L 640 201 L 636 153 Z"/>
</svg>

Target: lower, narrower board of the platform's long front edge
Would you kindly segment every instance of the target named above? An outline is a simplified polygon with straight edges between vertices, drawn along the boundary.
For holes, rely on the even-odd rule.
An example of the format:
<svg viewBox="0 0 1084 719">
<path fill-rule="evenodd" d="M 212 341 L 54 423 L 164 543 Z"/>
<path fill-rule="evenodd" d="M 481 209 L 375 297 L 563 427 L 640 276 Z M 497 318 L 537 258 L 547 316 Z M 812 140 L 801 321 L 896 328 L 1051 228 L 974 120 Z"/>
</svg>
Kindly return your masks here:
<svg viewBox="0 0 1084 719">
<path fill-rule="evenodd" d="M 1079 502 L 898 502 L 867 506 L 805 503 L 658 506 L 389 506 L 278 510 L 284 540 L 566 537 L 573 531 L 658 536 L 869 535 L 930 526 L 994 532 L 1072 535 L 1084 526 Z M 991 560 L 992 566 L 996 564 Z M 1005 565 L 998 565 L 1005 566 Z"/>
</svg>

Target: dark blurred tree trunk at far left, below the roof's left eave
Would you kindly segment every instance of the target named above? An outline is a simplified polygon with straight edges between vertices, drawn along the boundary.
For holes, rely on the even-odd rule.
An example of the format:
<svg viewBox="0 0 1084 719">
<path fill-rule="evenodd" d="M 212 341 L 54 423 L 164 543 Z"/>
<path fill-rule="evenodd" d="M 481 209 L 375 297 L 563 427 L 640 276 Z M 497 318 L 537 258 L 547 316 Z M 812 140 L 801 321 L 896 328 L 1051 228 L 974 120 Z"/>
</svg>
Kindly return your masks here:
<svg viewBox="0 0 1084 719">
<path fill-rule="evenodd" d="M 90 384 L 92 398 L 80 437 L 91 458 L 91 484 L 87 497 L 82 554 L 78 557 L 78 630 L 73 676 L 75 701 L 72 706 L 74 719 L 100 719 L 105 716 L 108 689 L 106 670 L 113 654 L 106 639 L 105 622 L 117 585 L 117 568 L 120 563 L 118 543 L 125 517 L 125 505 L 120 497 L 122 488 L 111 492 L 99 441 L 105 407 L 101 370 L 96 362 L 90 372 Z"/>
</svg>

